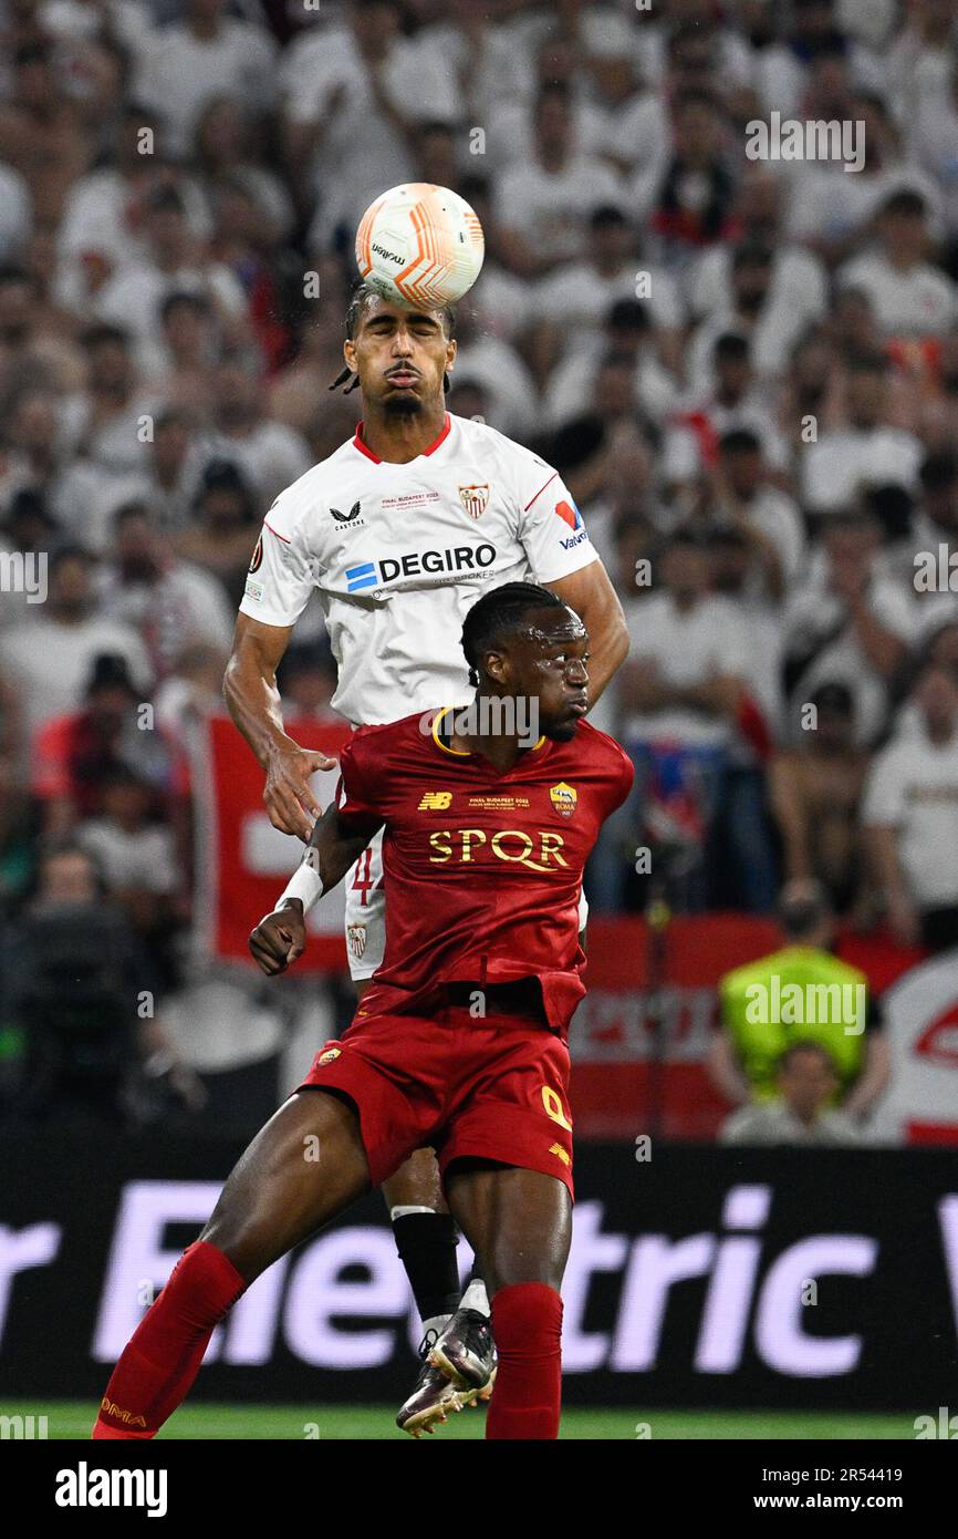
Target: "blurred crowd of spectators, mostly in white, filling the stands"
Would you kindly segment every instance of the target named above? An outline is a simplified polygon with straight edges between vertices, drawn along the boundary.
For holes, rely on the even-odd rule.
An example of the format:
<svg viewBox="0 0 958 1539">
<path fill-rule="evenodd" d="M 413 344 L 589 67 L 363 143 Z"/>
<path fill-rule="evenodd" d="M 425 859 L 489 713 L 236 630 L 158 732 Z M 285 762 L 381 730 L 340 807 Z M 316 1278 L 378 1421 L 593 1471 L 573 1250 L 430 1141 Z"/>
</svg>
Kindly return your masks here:
<svg viewBox="0 0 958 1539">
<path fill-rule="evenodd" d="M 594 906 L 817 880 L 956 943 L 956 15 L 3 0 L 0 557 L 49 553 L 0 594 L 8 951 L 78 883 L 181 985 L 191 731 L 264 511 L 354 429 L 354 231 L 404 180 L 486 232 L 451 409 L 563 472 L 626 609 Z M 750 159 L 772 112 L 860 125 L 860 169 Z M 329 717 L 318 606 L 280 682 Z"/>
</svg>

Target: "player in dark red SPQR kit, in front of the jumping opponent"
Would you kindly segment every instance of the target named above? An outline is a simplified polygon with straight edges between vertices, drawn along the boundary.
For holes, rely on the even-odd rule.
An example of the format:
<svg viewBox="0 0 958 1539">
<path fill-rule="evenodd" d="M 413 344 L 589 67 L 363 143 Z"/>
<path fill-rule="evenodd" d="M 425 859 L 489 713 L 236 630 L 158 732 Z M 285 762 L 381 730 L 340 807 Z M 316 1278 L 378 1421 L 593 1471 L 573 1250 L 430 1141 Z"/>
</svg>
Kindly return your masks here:
<svg viewBox="0 0 958 1539">
<path fill-rule="evenodd" d="M 474 725 L 446 708 L 431 731 L 414 714 L 363 728 L 343 749 L 340 797 L 306 860 L 328 891 L 384 828 L 383 965 L 343 1039 L 317 1054 L 229 1176 L 125 1348 L 94 1437 L 152 1437 L 249 1284 L 426 1145 L 492 1296 L 498 1377 L 486 1436 L 558 1436 L 572 1217 L 566 1033 L 584 994 L 578 894 L 632 765 L 583 720 L 587 636 L 555 594 L 532 583 L 491 591 L 466 616 L 463 648 Z M 538 714 L 541 736 L 527 746 L 515 729 L 524 713 L 491 709 L 520 700 Z M 251 937 L 266 973 L 304 943 L 295 897 Z M 323 1150 L 318 1165 L 304 1159 L 311 1147 Z"/>
</svg>

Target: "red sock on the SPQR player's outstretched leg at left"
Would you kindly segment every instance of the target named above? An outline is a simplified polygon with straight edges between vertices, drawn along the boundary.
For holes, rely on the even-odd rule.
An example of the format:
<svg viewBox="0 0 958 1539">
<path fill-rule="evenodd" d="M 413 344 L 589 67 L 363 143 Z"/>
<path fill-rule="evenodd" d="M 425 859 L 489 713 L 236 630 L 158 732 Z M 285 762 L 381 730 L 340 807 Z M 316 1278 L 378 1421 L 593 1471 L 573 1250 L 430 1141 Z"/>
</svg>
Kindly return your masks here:
<svg viewBox="0 0 958 1539">
<path fill-rule="evenodd" d="M 155 1437 L 188 1394 L 214 1328 L 246 1282 L 208 1240 L 189 1245 L 126 1344 L 94 1437 Z"/>
</svg>

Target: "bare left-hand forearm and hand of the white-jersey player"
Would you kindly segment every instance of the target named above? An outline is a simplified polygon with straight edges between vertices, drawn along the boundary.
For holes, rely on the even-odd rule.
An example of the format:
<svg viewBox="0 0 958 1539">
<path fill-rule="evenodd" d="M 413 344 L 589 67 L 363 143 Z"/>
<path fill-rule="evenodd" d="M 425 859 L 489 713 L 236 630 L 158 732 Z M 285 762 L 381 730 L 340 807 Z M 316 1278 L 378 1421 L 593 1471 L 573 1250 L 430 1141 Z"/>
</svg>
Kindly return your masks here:
<svg viewBox="0 0 958 1539">
<path fill-rule="evenodd" d="M 321 813 L 309 790 L 309 777 L 317 770 L 332 770 L 335 759 L 300 748 L 283 728 L 277 668 L 291 636 L 289 625 L 263 625 L 240 614 L 223 696 L 229 714 L 266 771 L 263 800 L 269 822 L 284 834 L 306 840 Z"/>
</svg>

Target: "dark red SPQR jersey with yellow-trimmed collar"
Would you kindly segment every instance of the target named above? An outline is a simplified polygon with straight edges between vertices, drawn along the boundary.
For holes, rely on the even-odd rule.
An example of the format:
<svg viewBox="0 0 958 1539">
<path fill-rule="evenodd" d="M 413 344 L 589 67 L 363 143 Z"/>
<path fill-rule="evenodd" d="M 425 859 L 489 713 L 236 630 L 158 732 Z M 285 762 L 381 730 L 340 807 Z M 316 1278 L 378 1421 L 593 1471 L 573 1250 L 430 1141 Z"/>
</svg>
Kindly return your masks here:
<svg viewBox="0 0 958 1539">
<path fill-rule="evenodd" d="M 423 1008 L 437 983 L 537 977 L 564 1031 L 584 994 L 578 897 L 604 819 L 632 786 L 618 743 L 580 722 L 503 773 L 423 716 L 361 726 L 340 757 L 340 808 L 380 817 L 386 953 L 364 1014 Z"/>
</svg>

